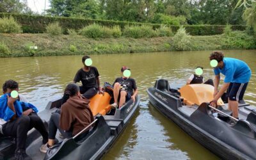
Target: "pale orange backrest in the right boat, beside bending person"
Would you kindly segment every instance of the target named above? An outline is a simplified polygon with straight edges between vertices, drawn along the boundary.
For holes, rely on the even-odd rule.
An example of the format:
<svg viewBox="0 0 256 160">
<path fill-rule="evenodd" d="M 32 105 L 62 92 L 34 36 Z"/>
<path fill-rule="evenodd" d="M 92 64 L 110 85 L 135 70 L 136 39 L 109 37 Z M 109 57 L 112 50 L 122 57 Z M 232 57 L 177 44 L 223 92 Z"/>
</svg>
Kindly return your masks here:
<svg viewBox="0 0 256 160">
<path fill-rule="evenodd" d="M 193 104 L 200 106 L 203 102 L 211 102 L 213 100 L 214 86 L 209 84 L 188 84 L 182 86 L 179 92 L 188 106 Z M 218 106 L 223 105 L 223 101 L 218 99 Z"/>
</svg>

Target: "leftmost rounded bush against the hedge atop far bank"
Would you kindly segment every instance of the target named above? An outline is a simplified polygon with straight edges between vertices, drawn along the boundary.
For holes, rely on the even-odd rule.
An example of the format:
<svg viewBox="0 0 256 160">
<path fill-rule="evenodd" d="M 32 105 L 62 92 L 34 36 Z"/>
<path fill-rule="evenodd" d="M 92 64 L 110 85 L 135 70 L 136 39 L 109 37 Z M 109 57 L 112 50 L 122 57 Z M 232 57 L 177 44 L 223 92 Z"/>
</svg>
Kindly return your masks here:
<svg viewBox="0 0 256 160">
<path fill-rule="evenodd" d="M 18 24 L 13 17 L 0 18 L 0 33 L 21 33 L 21 26 Z"/>
</svg>

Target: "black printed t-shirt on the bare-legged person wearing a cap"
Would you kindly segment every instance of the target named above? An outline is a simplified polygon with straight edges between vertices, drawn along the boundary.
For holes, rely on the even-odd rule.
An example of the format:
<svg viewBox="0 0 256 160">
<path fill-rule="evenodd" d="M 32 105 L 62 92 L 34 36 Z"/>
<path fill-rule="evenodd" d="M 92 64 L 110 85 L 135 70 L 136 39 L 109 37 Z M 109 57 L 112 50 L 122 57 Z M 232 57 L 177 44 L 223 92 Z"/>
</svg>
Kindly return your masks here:
<svg viewBox="0 0 256 160">
<path fill-rule="evenodd" d="M 118 78 L 116 78 L 114 84 L 115 83 L 120 83 L 122 86 L 121 90 L 125 90 L 125 91 L 129 92 L 129 93 L 131 93 L 131 95 L 132 95 L 133 90 L 137 89 L 136 82 L 131 77 L 129 77 L 128 79 L 123 79 L 123 77 L 118 77 Z"/>
</svg>

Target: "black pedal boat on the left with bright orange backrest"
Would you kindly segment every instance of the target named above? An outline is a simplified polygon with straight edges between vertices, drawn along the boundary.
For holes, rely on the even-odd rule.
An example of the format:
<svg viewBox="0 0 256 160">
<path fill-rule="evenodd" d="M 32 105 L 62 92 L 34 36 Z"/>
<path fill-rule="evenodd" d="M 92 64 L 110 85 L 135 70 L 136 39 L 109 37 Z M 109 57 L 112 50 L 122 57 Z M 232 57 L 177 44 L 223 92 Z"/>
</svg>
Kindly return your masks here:
<svg viewBox="0 0 256 160">
<path fill-rule="evenodd" d="M 108 88 L 111 88 L 108 86 Z M 97 94 L 90 99 L 95 120 L 90 126 L 69 139 L 60 139 L 59 132 L 56 138 L 60 143 L 54 145 L 46 154 L 40 152 L 42 136 L 35 129 L 28 133 L 26 153 L 32 159 L 99 159 L 115 142 L 116 138 L 124 131 L 140 103 L 137 95 L 135 102 L 128 100 L 120 109 L 111 109 L 111 90 L 106 88 L 104 95 Z M 51 117 L 51 113 L 61 106 L 61 99 L 52 100 L 38 115 L 45 121 L 45 126 Z M 91 129 L 90 129 L 91 127 Z M 84 131 L 90 131 L 86 134 Z M 0 136 L 0 159 L 13 157 L 15 141 L 11 137 Z"/>
</svg>

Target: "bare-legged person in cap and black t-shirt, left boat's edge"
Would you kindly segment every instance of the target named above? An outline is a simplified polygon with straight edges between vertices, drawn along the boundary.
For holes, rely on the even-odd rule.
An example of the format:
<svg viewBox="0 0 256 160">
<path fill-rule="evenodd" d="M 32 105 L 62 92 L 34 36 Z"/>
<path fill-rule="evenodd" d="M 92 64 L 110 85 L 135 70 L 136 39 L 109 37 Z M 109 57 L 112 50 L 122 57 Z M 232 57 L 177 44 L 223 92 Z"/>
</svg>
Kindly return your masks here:
<svg viewBox="0 0 256 160">
<path fill-rule="evenodd" d="M 118 97 L 120 97 L 119 107 L 121 107 L 124 105 L 124 103 L 127 100 L 132 99 L 133 101 L 135 101 L 135 97 L 138 94 L 136 81 L 131 77 L 125 77 L 123 74 L 125 70 L 130 70 L 130 69 L 125 66 L 122 67 L 121 72 L 123 76 L 116 78 L 115 82 L 113 83 L 113 86 L 114 86 L 113 94 L 114 94 L 114 100 L 115 100 L 114 103 L 111 104 L 113 108 L 118 107 L 118 104 L 117 104 Z"/>
</svg>

